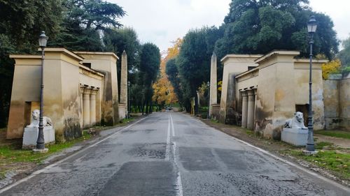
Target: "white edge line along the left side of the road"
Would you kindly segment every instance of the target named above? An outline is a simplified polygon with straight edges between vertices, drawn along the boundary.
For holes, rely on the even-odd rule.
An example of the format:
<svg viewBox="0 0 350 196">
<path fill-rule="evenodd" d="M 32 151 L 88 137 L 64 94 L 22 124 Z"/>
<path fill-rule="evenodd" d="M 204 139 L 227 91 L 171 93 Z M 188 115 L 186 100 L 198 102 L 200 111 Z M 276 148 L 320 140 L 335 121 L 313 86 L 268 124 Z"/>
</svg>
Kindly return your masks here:
<svg viewBox="0 0 350 196">
<path fill-rule="evenodd" d="M 146 117 L 146 118 L 148 118 L 148 117 Z M 144 118 L 144 119 L 146 119 L 146 118 Z M 48 165 L 48 166 L 44 167 L 43 169 L 39 169 L 38 171 L 33 172 L 30 176 L 27 176 L 27 177 L 25 177 L 24 179 L 20 179 L 19 181 L 15 182 L 15 183 L 13 183 L 13 184 L 10 184 L 9 186 L 6 186 L 5 188 L 0 189 L 0 194 L 3 193 L 3 192 L 5 192 L 6 190 L 9 190 L 10 188 L 13 188 L 13 187 L 15 187 L 15 186 L 18 186 L 20 183 L 23 183 L 23 182 L 25 182 L 25 181 L 28 181 L 29 179 L 33 178 L 34 176 L 36 176 L 36 175 L 38 175 L 38 174 L 41 174 L 41 173 L 47 171 L 48 169 L 50 169 L 50 168 L 52 168 L 52 167 L 55 167 L 55 166 L 59 165 L 59 163 L 62 163 L 62 162 L 64 162 L 65 160 L 68 160 L 69 158 L 71 158 L 71 157 L 73 157 L 73 156 L 76 156 L 78 153 L 82 153 L 83 151 L 86 151 L 87 149 L 90 149 L 90 148 L 92 148 L 93 146 L 96 146 L 97 144 L 99 144 L 99 143 L 101 143 L 101 142 L 104 142 L 104 141 L 106 141 L 106 140 L 109 140 L 109 138 L 113 137 L 114 135 L 117 135 L 118 133 L 120 133 L 120 131 L 130 128 L 130 127 L 134 126 L 135 124 L 137 124 L 137 123 L 143 121 L 144 119 L 140 119 L 139 121 L 136 121 L 136 122 L 132 123 L 130 126 L 127 126 L 127 127 L 125 127 L 125 128 L 122 128 L 122 129 L 118 130 L 118 132 L 113 133 L 113 134 L 109 135 L 108 137 L 105 137 L 104 139 L 99 140 L 98 142 L 96 142 L 96 143 L 94 143 L 94 144 L 92 144 L 92 145 L 90 145 L 90 146 L 87 146 L 85 149 L 82 149 L 82 150 L 80 150 L 80 151 L 76 151 L 75 153 L 71 154 L 71 156 L 67 156 L 66 158 L 64 158 L 64 159 L 62 159 L 62 160 L 59 160 L 59 161 L 57 161 L 56 163 L 52 163 L 51 165 Z"/>
</svg>

